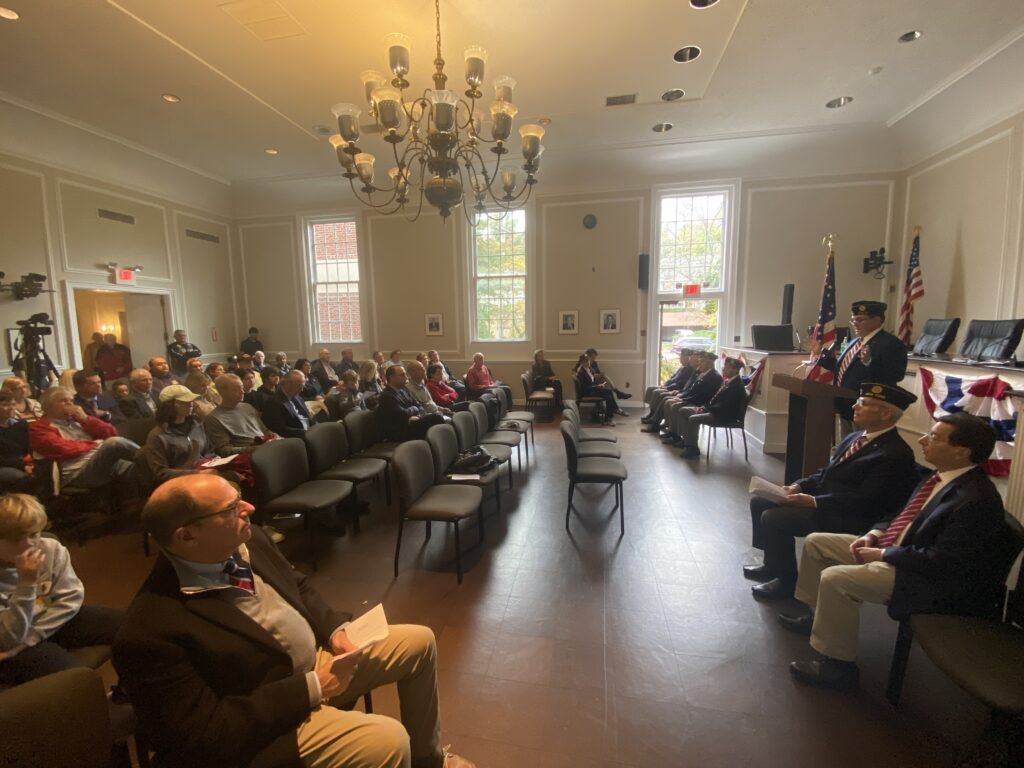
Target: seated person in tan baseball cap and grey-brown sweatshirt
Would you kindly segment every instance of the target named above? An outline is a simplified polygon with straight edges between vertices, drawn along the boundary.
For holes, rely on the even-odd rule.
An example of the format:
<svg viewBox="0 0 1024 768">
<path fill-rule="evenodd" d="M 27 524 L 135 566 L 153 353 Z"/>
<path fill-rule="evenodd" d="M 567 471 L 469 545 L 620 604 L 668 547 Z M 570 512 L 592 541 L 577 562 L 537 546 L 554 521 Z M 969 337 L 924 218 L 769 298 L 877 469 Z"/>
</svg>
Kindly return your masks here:
<svg viewBox="0 0 1024 768">
<path fill-rule="evenodd" d="M 216 454 L 195 415 L 199 395 L 181 384 L 164 387 L 157 409 L 157 426 L 135 457 L 143 487 L 167 482 L 172 477 L 195 474 L 204 459 Z M 212 471 L 212 470 L 207 470 Z"/>
</svg>

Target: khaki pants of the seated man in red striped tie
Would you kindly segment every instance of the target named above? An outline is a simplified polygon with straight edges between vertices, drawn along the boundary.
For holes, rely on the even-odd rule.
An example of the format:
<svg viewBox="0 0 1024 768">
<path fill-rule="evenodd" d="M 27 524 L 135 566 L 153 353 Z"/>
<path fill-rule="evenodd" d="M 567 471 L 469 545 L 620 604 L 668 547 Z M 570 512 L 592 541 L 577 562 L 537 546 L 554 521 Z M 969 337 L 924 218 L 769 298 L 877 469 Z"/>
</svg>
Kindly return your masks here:
<svg viewBox="0 0 1024 768">
<path fill-rule="evenodd" d="M 804 542 L 797 599 L 815 609 L 811 647 L 841 662 L 857 658 L 860 604 L 885 605 L 893 594 L 896 569 L 877 561 L 858 563 L 849 534 L 811 534 Z"/>
</svg>

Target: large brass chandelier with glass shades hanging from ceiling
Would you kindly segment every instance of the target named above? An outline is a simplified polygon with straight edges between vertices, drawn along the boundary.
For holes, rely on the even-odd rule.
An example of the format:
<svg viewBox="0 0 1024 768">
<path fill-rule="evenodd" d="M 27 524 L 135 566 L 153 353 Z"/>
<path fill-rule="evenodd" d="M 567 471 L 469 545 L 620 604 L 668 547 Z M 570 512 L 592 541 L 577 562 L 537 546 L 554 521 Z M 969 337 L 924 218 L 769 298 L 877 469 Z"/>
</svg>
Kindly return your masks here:
<svg viewBox="0 0 1024 768">
<path fill-rule="evenodd" d="M 391 34 L 384 38 L 388 51 L 388 66 L 393 79 L 374 70 L 360 76 L 367 101 L 368 115 L 374 119 L 383 139 L 391 144 L 394 165 L 388 171 L 389 183 L 379 186 L 375 182 L 376 158 L 364 152 L 359 140 L 360 109 L 352 103 L 337 103 L 331 112 L 338 120 L 339 133 L 331 136 L 331 145 L 338 156 L 352 193 L 364 205 L 385 214 L 415 214 L 419 218 L 423 200 L 437 209 L 442 217 L 462 206 L 471 196 L 473 210 L 477 213 L 504 215 L 522 207 L 529 199 L 536 174 L 541 167 L 544 145 L 544 128 L 523 125 L 519 128 L 522 170 L 526 177 L 517 180 L 514 168 L 502 169 L 502 157 L 509 153 L 506 142 L 512 133 L 512 121 L 517 109 L 512 103 L 516 82 L 510 77 L 500 77 L 494 82 L 495 102 L 490 105 L 490 138 L 481 134 L 483 115 L 476 100 L 483 97 L 480 85 L 487 61 L 487 52 L 479 46 L 466 49 L 466 83 L 469 88 L 465 98 L 444 87 L 444 59 L 441 57 L 440 0 L 434 0 L 436 25 L 435 72 L 433 89 L 426 89 L 422 96 L 407 100 L 404 91 L 410 83 L 406 76 L 410 70 L 410 39 L 406 35 Z M 468 100 L 467 100 L 468 99 Z M 485 148 L 494 155 L 488 171 Z M 508 166 L 508 163 L 506 163 Z M 467 221 L 476 224 L 476 217 L 469 213 L 469 206 L 462 206 Z"/>
</svg>

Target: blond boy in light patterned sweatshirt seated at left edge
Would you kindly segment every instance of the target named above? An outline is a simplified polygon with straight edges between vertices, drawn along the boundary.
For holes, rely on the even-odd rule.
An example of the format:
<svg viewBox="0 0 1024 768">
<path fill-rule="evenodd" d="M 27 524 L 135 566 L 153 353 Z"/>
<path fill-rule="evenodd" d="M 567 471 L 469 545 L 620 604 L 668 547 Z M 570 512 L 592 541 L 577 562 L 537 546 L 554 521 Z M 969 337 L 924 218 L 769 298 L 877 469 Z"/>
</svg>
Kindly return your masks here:
<svg viewBox="0 0 1024 768">
<path fill-rule="evenodd" d="M 0 497 L 0 687 L 82 667 L 69 651 L 113 644 L 124 618 L 83 605 L 68 550 L 41 536 L 47 522 L 35 497 Z"/>
</svg>

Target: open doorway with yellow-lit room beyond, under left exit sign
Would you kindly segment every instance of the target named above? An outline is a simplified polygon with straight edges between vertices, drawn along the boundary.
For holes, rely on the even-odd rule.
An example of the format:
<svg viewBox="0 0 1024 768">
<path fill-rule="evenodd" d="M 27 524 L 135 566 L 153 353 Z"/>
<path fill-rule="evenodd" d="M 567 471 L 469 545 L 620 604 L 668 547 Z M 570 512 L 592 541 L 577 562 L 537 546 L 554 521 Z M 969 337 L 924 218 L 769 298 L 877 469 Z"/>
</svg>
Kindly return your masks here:
<svg viewBox="0 0 1024 768">
<path fill-rule="evenodd" d="M 170 342 L 172 319 L 168 296 L 101 288 L 74 289 L 75 335 L 82 368 L 94 366 L 93 334 L 113 334 L 131 352 L 134 368 L 162 357 Z"/>
</svg>

